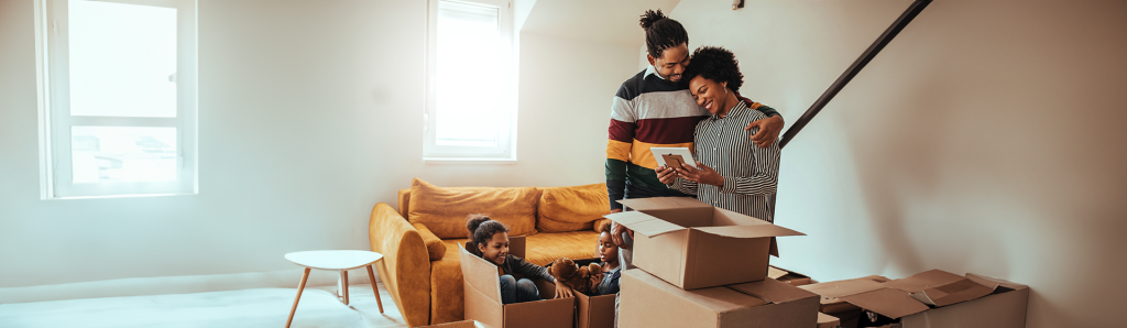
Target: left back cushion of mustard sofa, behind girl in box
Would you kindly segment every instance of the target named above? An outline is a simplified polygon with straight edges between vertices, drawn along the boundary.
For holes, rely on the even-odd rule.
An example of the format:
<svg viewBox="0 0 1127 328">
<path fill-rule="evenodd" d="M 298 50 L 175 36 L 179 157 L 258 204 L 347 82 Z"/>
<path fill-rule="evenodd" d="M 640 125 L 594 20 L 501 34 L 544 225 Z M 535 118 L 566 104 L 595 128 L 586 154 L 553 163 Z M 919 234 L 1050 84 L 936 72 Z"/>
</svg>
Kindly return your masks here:
<svg viewBox="0 0 1127 328">
<path fill-rule="evenodd" d="M 535 233 L 535 187 L 456 187 L 442 188 L 418 178 L 411 180 L 408 221 L 423 223 L 442 239 L 468 238 L 465 218 L 485 213 L 500 221 L 511 236 Z"/>
</svg>

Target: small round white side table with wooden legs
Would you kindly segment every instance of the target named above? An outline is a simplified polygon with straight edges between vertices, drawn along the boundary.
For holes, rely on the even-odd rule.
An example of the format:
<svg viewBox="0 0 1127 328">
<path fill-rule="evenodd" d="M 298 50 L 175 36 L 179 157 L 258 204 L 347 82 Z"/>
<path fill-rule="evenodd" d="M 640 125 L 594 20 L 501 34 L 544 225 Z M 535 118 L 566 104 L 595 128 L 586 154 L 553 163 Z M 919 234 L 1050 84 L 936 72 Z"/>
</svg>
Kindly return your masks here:
<svg viewBox="0 0 1127 328">
<path fill-rule="evenodd" d="M 375 292 L 375 303 L 380 307 L 380 313 L 383 313 L 383 301 L 380 300 L 380 290 L 375 285 L 375 274 L 372 273 L 372 266 L 376 261 L 383 264 L 381 261 L 383 259 L 382 254 L 367 250 L 309 250 L 286 254 L 285 259 L 305 267 L 305 273 L 301 276 L 301 284 L 298 285 L 298 296 L 293 299 L 293 308 L 290 309 L 290 319 L 285 321 L 286 328 L 293 322 L 293 313 L 298 311 L 298 301 L 301 300 L 301 292 L 305 290 L 305 281 L 309 280 L 309 272 L 314 268 L 340 273 L 340 282 L 344 283 L 343 290 L 345 295 L 344 299 L 340 299 L 340 296 L 337 296 L 337 299 L 340 299 L 347 305 L 348 271 L 366 267 L 367 277 L 372 281 L 372 291 Z"/>
</svg>

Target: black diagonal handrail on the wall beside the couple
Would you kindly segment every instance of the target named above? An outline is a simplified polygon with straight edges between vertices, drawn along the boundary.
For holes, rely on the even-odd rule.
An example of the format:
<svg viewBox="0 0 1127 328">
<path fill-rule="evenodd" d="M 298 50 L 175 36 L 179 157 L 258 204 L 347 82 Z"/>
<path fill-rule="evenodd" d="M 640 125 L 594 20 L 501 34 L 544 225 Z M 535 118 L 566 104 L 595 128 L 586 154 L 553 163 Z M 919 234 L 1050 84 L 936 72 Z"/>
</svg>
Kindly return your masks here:
<svg viewBox="0 0 1127 328">
<path fill-rule="evenodd" d="M 818 115 L 822 107 L 826 107 L 826 104 L 829 104 L 829 100 L 833 99 L 834 96 L 837 96 L 837 92 L 841 91 L 842 88 L 845 88 L 845 85 L 848 85 L 850 80 L 853 80 L 853 77 L 857 77 L 857 73 L 861 72 L 861 69 L 869 64 L 869 62 L 872 61 L 872 57 L 876 57 L 877 53 L 885 48 L 885 45 L 888 45 L 888 43 L 891 42 L 893 38 L 908 25 L 908 23 L 912 23 L 912 19 L 920 15 L 920 11 L 923 11 L 925 7 L 928 7 L 928 3 L 931 3 L 931 0 L 916 0 L 908 7 L 907 10 L 904 11 L 904 14 L 900 14 L 900 17 L 893 23 L 893 26 L 889 26 L 888 29 L 886 29 L 885 33 L 881 34 L 880 37 L 878 37 L 877 41 L 861 54 L 861 57 L 857 59 L 857 61 L 853 62 L 853 64 L 850 65 L 849 69 L 845 70 L 845 72 L 842 73 L 836 81 L 834 81 L 833 85 L 829 85 L 829 89 L 822 92 L 822 97 L 818 97 L 818 100 L 815 100 L 814 105 L 810 105 L 810 109 L 806 109 L 802 117 L 799 117 L 798 121 L 795 121 L 795 124 L 790 125 L 790 128 L 782 134 L 782 140 L 779 141 L 779 148 L 782 149 L 783 147 L 787 147 L 787 143 L 790 142 L 791 139 L 795 139 L 795 135 L 798 134 L 798 132 L 801 131 L 807 123 L 810 123 L 810 119 L 814 119 L 814 115 Z"/>
</svg>

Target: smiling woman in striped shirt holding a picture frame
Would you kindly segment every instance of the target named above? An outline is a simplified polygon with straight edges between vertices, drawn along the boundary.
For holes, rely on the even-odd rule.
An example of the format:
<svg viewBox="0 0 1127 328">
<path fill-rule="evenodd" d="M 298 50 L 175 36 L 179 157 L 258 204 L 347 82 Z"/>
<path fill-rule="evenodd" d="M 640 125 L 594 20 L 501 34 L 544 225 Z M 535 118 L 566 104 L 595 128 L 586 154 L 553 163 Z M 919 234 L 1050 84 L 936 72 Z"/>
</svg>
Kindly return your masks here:
<svg viewBox="0 0 1127 328">
<path fill-rule="evenodd" d="M 736 56 L 722 47 L 699 47 L 683 79 L 689 81 L 696 105 L 712 116 L 694 130 L 698 169 L 659 167 L 655 170 L 658 179 L 712 206 L 774 222 L 766 196 L 774 194 L 779 183 L 779 141 L 758 148 L 748 138 L 758 130 L 744 130 L 766 116 L 755 110 L 762 104 L 747 104 L 737 96 L 744 74 Z"/>
</svg>

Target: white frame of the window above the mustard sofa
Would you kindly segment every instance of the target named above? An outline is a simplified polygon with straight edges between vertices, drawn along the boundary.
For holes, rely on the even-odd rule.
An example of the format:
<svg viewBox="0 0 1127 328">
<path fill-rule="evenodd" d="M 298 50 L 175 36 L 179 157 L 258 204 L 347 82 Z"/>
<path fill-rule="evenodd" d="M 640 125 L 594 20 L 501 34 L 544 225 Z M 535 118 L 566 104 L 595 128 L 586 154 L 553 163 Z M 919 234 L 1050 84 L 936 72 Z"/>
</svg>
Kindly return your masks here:
<svg viewBox="0 0 1127 328">
<path fill-rule="evenodd" d="M 438 57 L 438 2 L 456 2 L 465 5 L 488 6 L 498 9 L 498 25 L 502 35 L 502 53 L 508 63 L 508 79 L 500 88 L 512 90 L 502 97 L 503 113 L 500 119 L 507 121 L 502 127 L 496 147 L 468 147 L 437 144 L 437 57 Z M 517 68 L 520 67 L 518 33 L 515 30 L 513 0 L 427 0 L 427 28 L 425 46 L 425 106 L 423 160 L 425 163 L 512 163 L 516 161 L 516 126 L 517 126 Z"/>
</svg>

